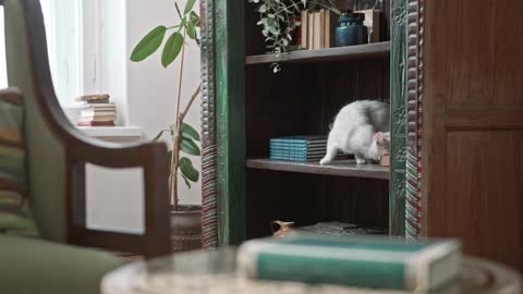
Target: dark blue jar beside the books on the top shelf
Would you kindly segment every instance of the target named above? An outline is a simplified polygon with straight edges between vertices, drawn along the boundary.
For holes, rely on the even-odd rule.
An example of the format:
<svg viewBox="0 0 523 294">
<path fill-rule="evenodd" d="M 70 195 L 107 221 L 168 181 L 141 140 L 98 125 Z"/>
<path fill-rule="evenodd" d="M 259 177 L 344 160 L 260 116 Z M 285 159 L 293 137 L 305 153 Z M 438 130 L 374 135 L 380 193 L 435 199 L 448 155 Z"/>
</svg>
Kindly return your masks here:
<svg viewBox="0 0 523 294">
<path fill-rule="evenodd" d="M 336 28 L 336 47 L 367 44 L 368 30 L 363 25 L 364 20 L 363 13 L 342 13 Z"/>
</svg>

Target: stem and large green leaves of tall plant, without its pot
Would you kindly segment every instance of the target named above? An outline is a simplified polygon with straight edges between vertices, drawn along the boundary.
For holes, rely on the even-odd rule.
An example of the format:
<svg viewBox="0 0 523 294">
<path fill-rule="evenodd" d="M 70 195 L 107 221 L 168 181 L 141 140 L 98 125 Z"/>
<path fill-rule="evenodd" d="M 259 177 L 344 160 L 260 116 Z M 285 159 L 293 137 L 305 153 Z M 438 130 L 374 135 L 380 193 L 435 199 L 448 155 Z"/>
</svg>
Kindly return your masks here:
<svg viewBox="0 0 523 294">
<path fill-rule="evenodd" d="M 172 196 L 173 209 L 178 210 L 179 196 L 178 196 L 178 171 L 181 171 L 182 179 L 188 188 L 191 188 L 191 182 L 196 183 L 199 179 L 199 172 L 193 166 L 193 162 L 187 157 L 180 157 L 180 152 L 192 156 L 200 156 L 202 151 L 196 144 L 200 140 L 199 133 L 184 122 L 184 119 L 191 109 L 193 102 L 199 95 L 200 85 L 194 89 L 188 102 L 185 107 L 181 108 L 181 94 L 183 82 L 183 68 L 185 58 L 185 44 L 187 37 L 194 40 L 199 46 L 198 28 L 200 19 L 198 14 L 193 11 L 193 7 L 196 0 L 187 0 L 183 13 L 181 12 L 177 2 L 174 7 L 177 13 L 180 16 L 180 23 L 173 26 L 159 25 L 145 35 L 142 40 L 136 45 L 131 53 L 131 61 L 141 62 L 153 53 L 155 53 L 163 44 L 166 35 L 170 33 L 167 41 L 163 44 L 161 52 L 161 65 L 168 68 L 180 54 L 180 76 L 177 93 L 177 109 L 174 113 L 174 123 L 169 125 L 168 128 L 161 130 L 154 140 L 158 140 L 165 133 L 171 135 L 172 150 L 169 151 L 170 171 L 171 176 L 169 181 L 169 191 Z"/>
</svg>

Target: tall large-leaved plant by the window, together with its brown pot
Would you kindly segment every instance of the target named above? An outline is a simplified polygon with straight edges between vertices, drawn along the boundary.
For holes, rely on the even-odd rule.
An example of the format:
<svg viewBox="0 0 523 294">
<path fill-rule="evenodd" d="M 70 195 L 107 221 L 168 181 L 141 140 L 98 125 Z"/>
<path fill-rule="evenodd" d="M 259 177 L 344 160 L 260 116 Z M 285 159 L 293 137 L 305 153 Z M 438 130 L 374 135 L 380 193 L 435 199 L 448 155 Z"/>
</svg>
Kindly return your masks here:
<svg viewBox="0 0 523 294">
<path fill-rule="evenodd" d="M 131 61 L 141 62 L 157 52 L 163 45 L 161 50 L 161 65 L 163 68 L 172 64 L 178 57 L 181 58 L 174 123 L 166 130 L 161 130 L 154 138 L 154 140 L 158 140 L 165 134 L 169 134 L 172 140 L 172 150 L 169 151 L 169 191 L 172 197 L 171 241 L 173 250 L 195 249 L 202 246 L 202 206 L 180 205 L 178 194 L 179 172 L 181 180 L 190 188 L 191 183 L 196 183 L 199 179 L 198 170 L 194 168 L 191 159 L 185 157 L 185 155 L 200 156 L 197 144 L 200 140 L 199 133 L 184 120 L 193 102 L 199 96 L 200 85 L 194 89 L 193 95 L 183 108 L 181 105 L 185 44 L 193 40 L 199 46 L 200 20 L 198 14 L 193 11 L 195 2 L 196 0 L 187 0 L 183 13 L 178 3 L 174 2 L 181 20 L 180 23 L 172 26 L 159 25 L 155 27 L 139 40 L 131 54 Z M 166 36 L 168 36 L 167 41 L 163 42 Z"/>
</svg>

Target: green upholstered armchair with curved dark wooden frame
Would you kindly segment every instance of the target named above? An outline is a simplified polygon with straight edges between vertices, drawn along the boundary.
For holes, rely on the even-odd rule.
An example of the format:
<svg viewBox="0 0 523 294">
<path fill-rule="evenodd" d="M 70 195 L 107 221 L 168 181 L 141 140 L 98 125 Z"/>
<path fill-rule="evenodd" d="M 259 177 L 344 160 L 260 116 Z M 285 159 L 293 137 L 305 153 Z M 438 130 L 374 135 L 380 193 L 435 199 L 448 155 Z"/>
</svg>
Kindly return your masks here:
<svg viewBox="0 0 523 294">
<path fill-rule="evenodd" d="M 24 98 L 28 199 L 41 236 L 41 240 L 29 240 L 0 235 L 0 293 L 32 293 L 9 287 L 27 287 L 27 283 L 39 289 L 39 293 L 97 292 L 98 285 L 93 283 L 104 271 L 119 265 L 120 259 L 70 245 L 146 257 L 170 252 L 167 148 L 159 143 L 129 146 L 104 143 L 76 130 L 62 112 L 53 90 L 39 1 L 0 0 L 0 4 L 5 16 L 9 84 L 17 88 L 3 90 L 1 95 L 22 95 Z M 143 235 L 86 228 L 87 162 L 115 169 L 143 168 Z M 60 260 L 62 257 L 66 260 Z M 90 269 L 93 277 L 73 274 L 73 271 L 85 268 Z M 41 285 L 35 281 L 24 284 L 23 280 L 31 279 L 32 272 L 44 280 Z M 60 281 L 70 285 L 59 287 L 49 282 L 56 274 L 64 274 Z M 68 281 L 68 274 L 78 278 L 77 283 Z M 49 286 L 52 291 L 47 291 Z"/>
</svg>

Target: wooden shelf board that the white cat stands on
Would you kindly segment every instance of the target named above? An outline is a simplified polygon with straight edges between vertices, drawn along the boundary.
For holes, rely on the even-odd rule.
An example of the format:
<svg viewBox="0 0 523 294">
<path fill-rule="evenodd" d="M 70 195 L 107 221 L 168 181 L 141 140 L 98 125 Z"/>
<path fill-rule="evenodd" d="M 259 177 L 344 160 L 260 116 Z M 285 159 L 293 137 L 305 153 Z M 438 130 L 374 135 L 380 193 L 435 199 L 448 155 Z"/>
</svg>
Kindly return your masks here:
<svg viewBox="0 0 523 294">
<path fill-rule="evenodd" d="M 331 164 L 320 166 L 319 162 L 247 159 L 246 167 L 260 170 L 389 180 L 389 168 L 378 164 L 356 164 L 354 160 L 337 160 Z"/>
</svg>

